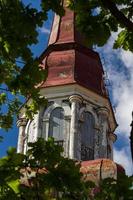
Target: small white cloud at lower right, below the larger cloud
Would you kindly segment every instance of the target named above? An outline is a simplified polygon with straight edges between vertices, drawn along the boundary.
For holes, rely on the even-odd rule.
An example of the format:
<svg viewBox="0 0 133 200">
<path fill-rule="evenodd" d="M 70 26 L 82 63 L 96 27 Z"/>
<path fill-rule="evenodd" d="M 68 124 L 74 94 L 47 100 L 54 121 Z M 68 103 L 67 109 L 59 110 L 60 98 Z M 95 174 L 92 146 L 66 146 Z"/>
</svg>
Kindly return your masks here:
<svg viewBox="0 0 133 200">
<path fill-rule="evenodd" d="M 118 150 L 114 148 L 114 161 L 124 167 L 126 170 L 127 175 L 133 174 L 133 163 L 130 157 L 127 155 L 129 154 L 130 149 L 128 147 Z"/>
</svg>

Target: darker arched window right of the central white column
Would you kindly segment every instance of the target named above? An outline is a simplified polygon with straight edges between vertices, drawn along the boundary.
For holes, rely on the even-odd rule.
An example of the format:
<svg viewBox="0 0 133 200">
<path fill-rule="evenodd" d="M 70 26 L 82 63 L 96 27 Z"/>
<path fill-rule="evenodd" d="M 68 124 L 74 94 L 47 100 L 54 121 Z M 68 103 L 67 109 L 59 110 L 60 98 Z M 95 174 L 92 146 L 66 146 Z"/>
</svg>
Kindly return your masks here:
<svg viewBox="0 0 133 200">
<path fill-rule="evenodd" d="M 81 160 L 94 159 L 94 117 L 91 113 L 84 113 L 84 121 L 81 125 Z"/>
</svg>

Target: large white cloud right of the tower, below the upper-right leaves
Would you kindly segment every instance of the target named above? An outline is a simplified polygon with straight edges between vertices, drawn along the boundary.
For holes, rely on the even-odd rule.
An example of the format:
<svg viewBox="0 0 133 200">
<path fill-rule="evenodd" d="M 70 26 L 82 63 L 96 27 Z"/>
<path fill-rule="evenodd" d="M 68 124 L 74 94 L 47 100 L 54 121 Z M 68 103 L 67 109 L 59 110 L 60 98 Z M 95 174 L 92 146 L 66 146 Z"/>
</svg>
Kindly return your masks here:
<svg viewBox="0 0 133 200">
<path fill-rule="evenodd" d="M 118 133 L 126 133 L 129 136 L 131 113 L 133 110 L 133 54 L 121 50 L 120 59 L 126 67 L 126 71 L 115 71 L 112 76 L 113 100 L 116 103 L 116 118 L 118 120 Z M 114 70 L 114 69 L 113 69 Z M 110 72 L 111 77 L 111 72 Z"/>
</svg>

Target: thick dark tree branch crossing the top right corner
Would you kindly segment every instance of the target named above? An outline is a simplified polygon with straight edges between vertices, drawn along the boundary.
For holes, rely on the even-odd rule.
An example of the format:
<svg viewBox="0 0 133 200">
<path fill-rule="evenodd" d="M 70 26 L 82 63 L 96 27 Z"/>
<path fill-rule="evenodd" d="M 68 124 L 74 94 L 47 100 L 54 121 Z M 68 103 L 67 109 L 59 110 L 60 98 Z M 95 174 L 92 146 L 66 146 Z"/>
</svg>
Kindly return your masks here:
<svg viewBox="0 0 133 200">
<path fill-rule="evenodd" d="M 133 32 L 133 22 L 128 19 L 116 6 L 112 0 L 101 0 L 103 6 L 107 8 L 117 21 Z"/>
</svg>

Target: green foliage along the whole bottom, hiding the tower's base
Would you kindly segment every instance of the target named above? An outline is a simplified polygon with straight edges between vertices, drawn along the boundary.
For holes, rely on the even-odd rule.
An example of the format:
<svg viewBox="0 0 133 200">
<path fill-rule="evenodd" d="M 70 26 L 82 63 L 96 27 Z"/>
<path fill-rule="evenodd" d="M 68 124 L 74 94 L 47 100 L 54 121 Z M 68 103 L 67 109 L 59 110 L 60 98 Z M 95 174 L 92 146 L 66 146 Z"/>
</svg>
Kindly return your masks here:
<svg viewBox="0 0 133 200">
<path fill-rule="evenodd" d="M 0 159 L 0 199 L 5 200 L 130 200 L 133 177 L 86 182 L 80 163 L 64 158 L 53 138 L 29 143 L 26 155 L 14 148 Z"/>
</svg>

